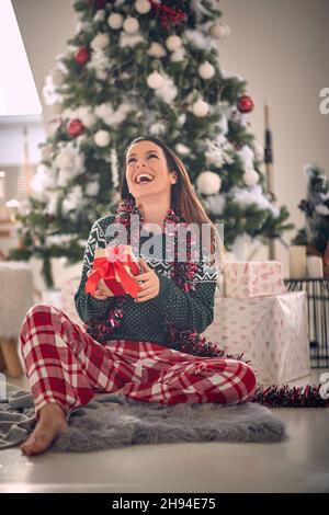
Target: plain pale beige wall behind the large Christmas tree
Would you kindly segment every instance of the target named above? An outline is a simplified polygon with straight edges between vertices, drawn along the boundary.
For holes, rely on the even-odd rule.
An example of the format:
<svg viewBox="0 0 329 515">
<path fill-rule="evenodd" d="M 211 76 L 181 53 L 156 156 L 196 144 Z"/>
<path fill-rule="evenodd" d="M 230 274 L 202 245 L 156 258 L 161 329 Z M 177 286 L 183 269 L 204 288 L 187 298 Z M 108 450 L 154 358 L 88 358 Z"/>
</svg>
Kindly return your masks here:
<svg viewBox="0 0 329 515">
<path fill-rule="evenodd" d="M 316 161 L 329 174 L 329 115 L 319 112 L 319 91 L 329 87 L 329 1 L 220 0 L 220 5 L 231 28 L 219 46 L 223 68 L 248 81 L 256 103 L 250 129 L 261 145 L 263 99 L 271 100 L 275 191 L 302 227 L 297 204 L 305 195 L 304 164 Z M 71 2 L 13 0 L 13 7 L 43 102 L 44 78 L 73 34 Z M 286 251 L 276 249 L 287 273 Z"/>
</svg>

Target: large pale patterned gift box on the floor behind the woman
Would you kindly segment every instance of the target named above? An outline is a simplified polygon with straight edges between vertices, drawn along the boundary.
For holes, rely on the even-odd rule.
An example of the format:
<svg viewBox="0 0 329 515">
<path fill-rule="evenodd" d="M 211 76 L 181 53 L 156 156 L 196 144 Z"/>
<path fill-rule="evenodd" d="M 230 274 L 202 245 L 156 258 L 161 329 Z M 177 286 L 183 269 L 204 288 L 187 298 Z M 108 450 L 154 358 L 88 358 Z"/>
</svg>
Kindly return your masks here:
<svg viewBox="0 0 329 515">
<path fill-rule="evenodd" d="M 215 297 L 215 317 L 203 336 L 228 353 L 243 353 L 258 382 L 283 385 L 309 375 L 306 291 L 253 299 Z"/>
</svg>

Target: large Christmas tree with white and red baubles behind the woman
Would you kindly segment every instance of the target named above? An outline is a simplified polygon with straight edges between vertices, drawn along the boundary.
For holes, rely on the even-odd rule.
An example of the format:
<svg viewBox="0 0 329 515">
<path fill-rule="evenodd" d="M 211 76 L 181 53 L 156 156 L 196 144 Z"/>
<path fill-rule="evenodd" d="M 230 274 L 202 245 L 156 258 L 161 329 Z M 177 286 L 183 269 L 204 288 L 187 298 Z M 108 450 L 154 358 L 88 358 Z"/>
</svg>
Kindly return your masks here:
<svg viewBox="0 0 329 515">
<path fill-rule="evenodd" d="M 121 159 L 137 136 L 163 139 L 183 160 L 228 250 L 290 229 L 265 193 L 262 150 L 249 133 L 246 81 L 220 69 L 228 27 L 219 0 L 76 0 L 79 23 L 47 77 L 54 119 L 16 216 L 12 259 L 82 259 L 93 221 L 118 201 Z"/>
</svg>

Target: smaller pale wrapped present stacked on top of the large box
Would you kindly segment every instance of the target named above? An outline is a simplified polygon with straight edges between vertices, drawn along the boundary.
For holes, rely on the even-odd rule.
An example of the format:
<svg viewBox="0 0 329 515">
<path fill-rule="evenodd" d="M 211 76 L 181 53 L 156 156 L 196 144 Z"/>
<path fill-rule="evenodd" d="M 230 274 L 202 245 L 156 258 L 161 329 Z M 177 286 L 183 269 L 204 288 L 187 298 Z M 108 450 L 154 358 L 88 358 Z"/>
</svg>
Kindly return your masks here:
<svg viewBox="0 0 329 515">
<path fill-rule="evenodd" d="M 228 262 L 225 264 L 225 297 L 246 299 L 285 291 L 280 261 Z"/>
</svg>

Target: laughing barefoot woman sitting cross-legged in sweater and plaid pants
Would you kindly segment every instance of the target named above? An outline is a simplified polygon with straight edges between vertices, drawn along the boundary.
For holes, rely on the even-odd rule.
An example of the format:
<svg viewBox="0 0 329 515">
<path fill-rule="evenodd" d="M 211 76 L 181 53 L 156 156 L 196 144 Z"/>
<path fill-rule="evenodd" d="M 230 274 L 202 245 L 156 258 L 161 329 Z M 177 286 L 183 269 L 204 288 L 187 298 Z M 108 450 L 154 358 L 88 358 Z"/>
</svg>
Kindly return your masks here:
<svg viewBox="0 0 329 515">
<path fill-rule="evenodd" d="M 21 347 L 37 417 L 34 432 L 21 447 L 25 455 L 45 450 L 67 431 L 70 411 L 88 403 L 95 392 L 120 390 L 134 400 L 168 404 L 241 403 L 254 392 L 252 369 L 198 336 L 213 321 L 217 268 L 209 253 L 201 253 L 197 262 L 192 259 L 200 247 L 191 236 L 188 260 L 178 259 L 178 228 L 207 224 L 212 254 L 217 233 L 183 163 L 152 137 L 135 139 L 124 160 L 116 213 L 95 221 L 84 252 L 75 297 L 84 331 L 53 306 L 36 305 L 24 319 Z M 86 294 L 94 250 L 111 242 L 113 224 L 126 228 L 136 249 L 133 215 L 140 221 L 137 253 L 140 250 L 144 255 L 136 277 L 137 298 L 107 296 L 103 281 L 93 296 Z M 152 255 L 143 253 L 149 225 L 158 228 L 152 241 L 161 240 Z M 163 259 L 162 251 L 168 249 Z"/>
</svg>

